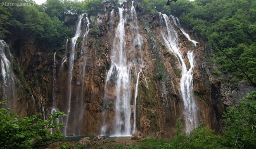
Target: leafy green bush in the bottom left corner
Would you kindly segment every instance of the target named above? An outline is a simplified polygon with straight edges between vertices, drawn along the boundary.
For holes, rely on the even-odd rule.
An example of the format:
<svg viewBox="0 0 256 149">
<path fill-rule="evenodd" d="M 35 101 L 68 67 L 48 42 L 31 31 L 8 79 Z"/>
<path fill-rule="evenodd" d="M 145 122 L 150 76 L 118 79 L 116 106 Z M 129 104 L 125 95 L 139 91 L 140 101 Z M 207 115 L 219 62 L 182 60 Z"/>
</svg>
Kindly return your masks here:
<svg viewBox="0 0 256 149">
<path fill-rule="evenodd" d="M 0 101 L 0 104 L 6 101 Z M 43 121 L 38 119 L 40 115 L 20 118 L 11 111 L 9 108 L 0 108 L 1 149 L 36 149 L 64 137 L 60 130 L 49 134 L 51 128 L 63 128 L 64 123 L 57 122 L 59 116 L 66 116 L 63 112 L 53 112 Z"/>
</svg>

